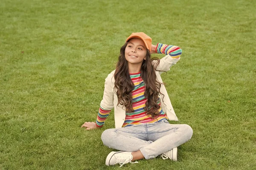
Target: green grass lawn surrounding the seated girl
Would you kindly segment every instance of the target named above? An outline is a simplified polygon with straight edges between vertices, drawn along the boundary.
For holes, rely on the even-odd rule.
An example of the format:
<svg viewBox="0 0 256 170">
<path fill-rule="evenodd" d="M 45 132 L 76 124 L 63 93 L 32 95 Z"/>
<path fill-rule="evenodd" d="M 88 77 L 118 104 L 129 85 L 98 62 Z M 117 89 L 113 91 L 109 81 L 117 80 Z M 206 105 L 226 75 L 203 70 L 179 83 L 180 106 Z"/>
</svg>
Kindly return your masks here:
<svg viewBox="0 0 256 170">
<path fill-rule="evenodd" d="M 163 75 L 192 139 L 177 162 L 130 170 L 256 167 L 256 2 L 253 0 L 1 0 L 0 170 L 113 170 L 95 121 L 104 80 L 131 32 L 180 46 Z M 163 57 L 160 55 L 154 55 Z"/>
</svg>

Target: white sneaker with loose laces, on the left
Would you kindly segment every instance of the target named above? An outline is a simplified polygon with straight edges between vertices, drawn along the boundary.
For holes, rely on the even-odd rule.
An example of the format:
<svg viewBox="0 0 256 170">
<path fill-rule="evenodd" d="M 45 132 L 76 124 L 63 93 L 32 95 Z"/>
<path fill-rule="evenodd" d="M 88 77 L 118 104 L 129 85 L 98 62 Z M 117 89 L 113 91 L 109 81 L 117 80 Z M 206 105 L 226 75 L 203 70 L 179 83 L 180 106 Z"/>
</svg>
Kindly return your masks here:
<svg viewBox="0 0 256 170">
<path fill-rule="evenodd" d="M 111 152 L 108 154 L 106 158 L 106 165 L 111 166 L 115 164 L 120 164 L 122 167 L 124 164 L 127 163 L 138 163 L 138 162 L 131 162 L 133 156 L 131 155 L 131 152 L 126 151 L 118 151 L 118 152 Z"/>
</svg>

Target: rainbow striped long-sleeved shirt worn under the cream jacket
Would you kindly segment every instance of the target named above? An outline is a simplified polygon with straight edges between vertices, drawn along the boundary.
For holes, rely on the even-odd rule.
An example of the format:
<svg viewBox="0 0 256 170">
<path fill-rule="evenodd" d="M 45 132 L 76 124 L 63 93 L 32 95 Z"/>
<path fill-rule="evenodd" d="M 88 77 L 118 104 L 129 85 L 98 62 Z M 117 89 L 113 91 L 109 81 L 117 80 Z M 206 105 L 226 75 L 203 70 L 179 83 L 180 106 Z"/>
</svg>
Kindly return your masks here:
<svg viewBox="0 0 256 170">
<path fill-rule="evenodd" d="M 158 54 L 166 54 L 170 55 L 171 58 L 180 58 L 182 53 L 180 47 L 178 46 L 170 46 L 162 43 L 157 44 L 156 52 Z M 159 109 L 160 115 L 158 118 L 151 119 L 150 116 L 146 115 L 145 112 L 145 102 L 147 99 L 144 96 L 145 86 L 142 78 L 140 77 L 140 73 L 130 74 L 131 80 L 134 82 L 134 90 L 132 91 L 132 100 L 133 103 L 133 113 L 125 113 L 125 122 L 122 127 L 131 126 L 134 124 L 142 124 L 142 123 L 154 123 L 157 121 L 162 121 L 163 119 L 168 119 L 163 110 Z M 160 105 L 160 101 L 158 102 Z M 96 126 L 102 127 L 105 123 L 106 118 L 108 117 L 111 110 L 104 109 L 102 107 L 99 108 Z"/>
</svg>

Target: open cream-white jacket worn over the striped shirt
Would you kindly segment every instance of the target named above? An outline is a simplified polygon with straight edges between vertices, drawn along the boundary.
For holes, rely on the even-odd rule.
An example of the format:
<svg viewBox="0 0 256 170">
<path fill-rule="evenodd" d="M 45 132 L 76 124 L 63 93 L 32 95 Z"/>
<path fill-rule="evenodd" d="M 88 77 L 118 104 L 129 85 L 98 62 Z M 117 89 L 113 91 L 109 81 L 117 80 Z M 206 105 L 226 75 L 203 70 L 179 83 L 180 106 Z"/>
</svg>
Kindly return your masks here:
<svg viewBox="0 0 256 170">
<path fill-rule="evenodd" d="M 161 71 L 169 71 L 170 67 L 176 64 L 180 58 L 175 59 L 171 58 L 170 55 L 166 55 L 164 58 L 160 59 L 160 63 L 157 66 L 157 70 Z M 154 62 L 154 61 L 153 61 Z M 125 121 L 125 107 L 122 108 L 122 105 L 117 106 L 117 95 L 114 92 L 114 73 L 111 72 L 108 77 L 105 79 L 105 89 L 103 94 L 103 99 L 100 103 L 100 106 L 103 109 L 111 110 L 114 108 L 114 114 L 115 114 L 115 127 L 119 128 L 122 127 L 124 121 Z M 163 83 L 162 78 L 160 74 L 163 72 L 156 71 L 157 79 L 160 83 Z M 169 120 L 172 121 L 178 121 L 177 116 L 175 115 L 175 112 L 173 110 L 170 98 L 168 96 L 168 93 L 166 91 L 166 88 L 163 84 L 161 84 L 160 92 L 164 95 L 159 95 L 161 99 L 161 108 L 163 109 L 163 112 L 166 113 Z"/>
</svg>

